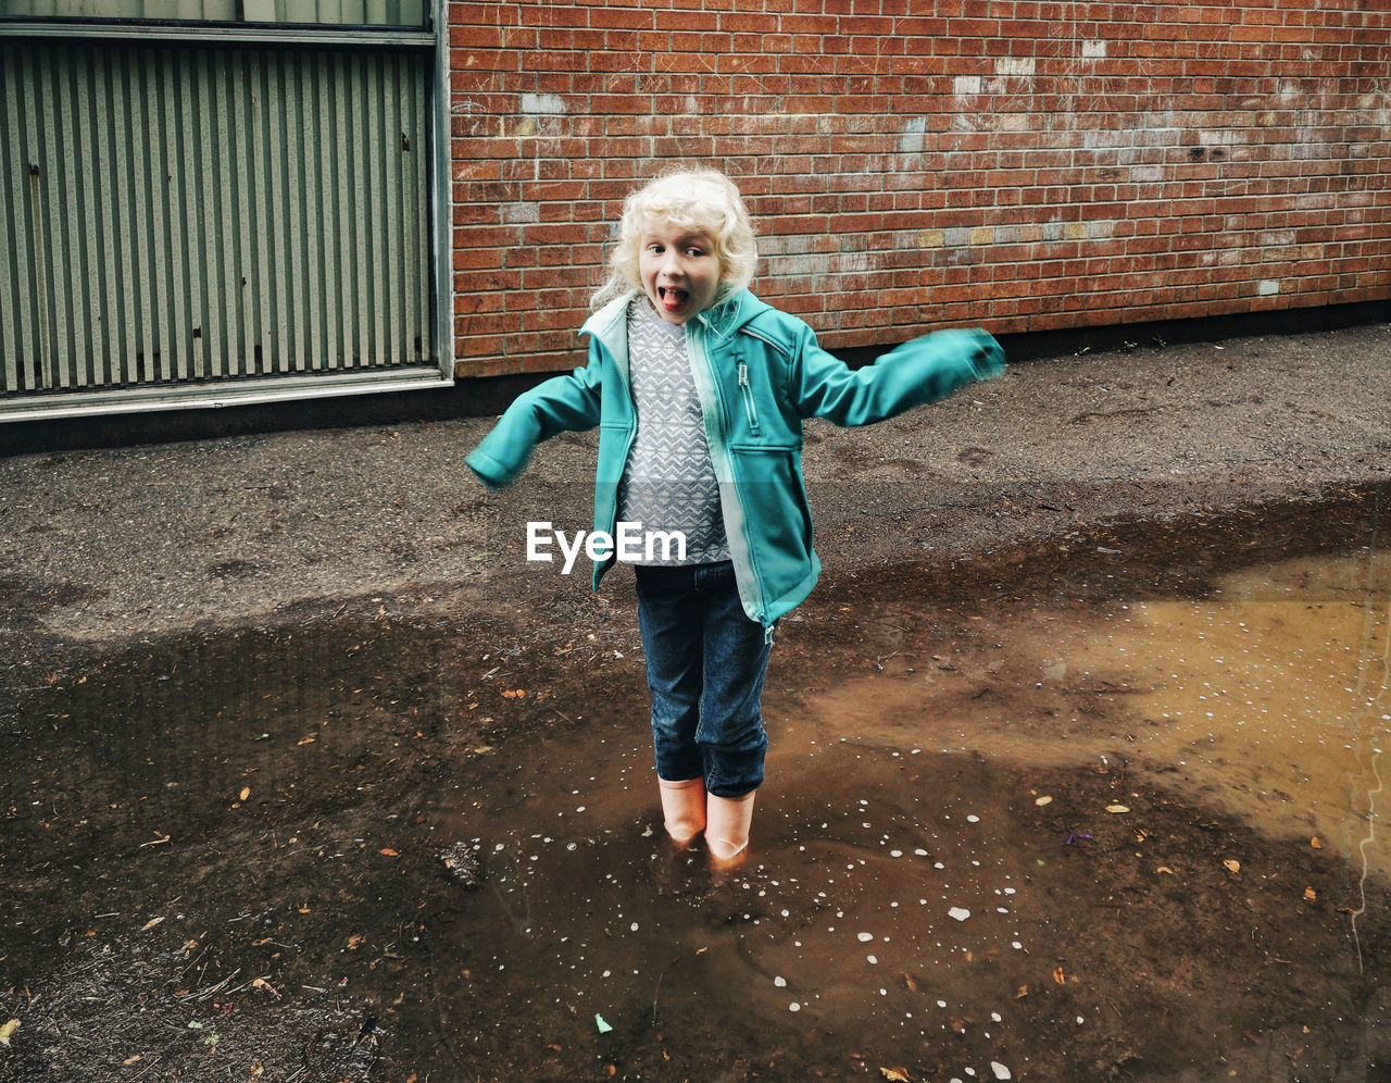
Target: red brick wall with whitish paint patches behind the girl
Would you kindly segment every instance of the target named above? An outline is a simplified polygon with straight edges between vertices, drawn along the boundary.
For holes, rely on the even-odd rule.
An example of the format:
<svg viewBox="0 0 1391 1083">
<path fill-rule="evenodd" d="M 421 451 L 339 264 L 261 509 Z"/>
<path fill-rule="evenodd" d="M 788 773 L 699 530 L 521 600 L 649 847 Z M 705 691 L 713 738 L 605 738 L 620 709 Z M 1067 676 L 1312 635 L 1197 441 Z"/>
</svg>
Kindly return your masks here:
<svg viewBox="0 0 1391 1083">
<path fill-rule="evenodd" d="M 449 21 L 462 376 L 580 361 L 618 205 L 670 161 L 736 180 L 754 290 L 832 348 L 1391 297 L 1385 3 L 540 0 Z"/>
</svg>

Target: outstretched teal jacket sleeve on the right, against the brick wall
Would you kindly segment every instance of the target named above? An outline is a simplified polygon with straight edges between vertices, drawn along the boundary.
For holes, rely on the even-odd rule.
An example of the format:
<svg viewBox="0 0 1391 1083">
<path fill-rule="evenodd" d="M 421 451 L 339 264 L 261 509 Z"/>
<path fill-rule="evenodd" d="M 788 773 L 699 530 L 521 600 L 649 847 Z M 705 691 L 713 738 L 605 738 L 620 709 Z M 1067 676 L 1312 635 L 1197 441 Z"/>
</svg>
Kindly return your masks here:
<svg viewBox="0 0 1391 1083">
<path fill-rule="evenodd" d="M 801 416 L 847 427 L 886 420 L 1004 372 L 1004 351 L 979 330 L 936 331 L 855 370 L 822 349 L 810 327 L 798 347 L 791 390 Z"/>
</svg>

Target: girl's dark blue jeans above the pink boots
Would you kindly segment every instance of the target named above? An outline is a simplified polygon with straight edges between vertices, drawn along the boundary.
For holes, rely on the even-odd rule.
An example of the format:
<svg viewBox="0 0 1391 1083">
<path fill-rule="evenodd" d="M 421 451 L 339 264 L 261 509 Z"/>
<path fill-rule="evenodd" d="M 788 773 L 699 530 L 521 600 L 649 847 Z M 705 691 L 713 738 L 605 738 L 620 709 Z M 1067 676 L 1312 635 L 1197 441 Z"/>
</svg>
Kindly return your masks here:
<svg viewBox="0 0 1391 1083">
<path fill-rule="evenodd" d="M 704 778 L 707 792 L 741 798 L 764 781 L 759 700 L 772 645 L 744 614 L 729 561 L 633 571 L 657 775 Z"/>
</svg>

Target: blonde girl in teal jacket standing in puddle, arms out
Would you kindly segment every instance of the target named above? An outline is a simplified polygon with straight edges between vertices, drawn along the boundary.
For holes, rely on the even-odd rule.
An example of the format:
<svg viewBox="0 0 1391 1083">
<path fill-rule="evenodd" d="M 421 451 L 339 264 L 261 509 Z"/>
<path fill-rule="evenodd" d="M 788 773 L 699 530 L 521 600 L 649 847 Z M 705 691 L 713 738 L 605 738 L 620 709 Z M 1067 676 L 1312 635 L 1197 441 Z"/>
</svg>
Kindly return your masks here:
<svg viewBox="0 0 1391 1083">
<path fill-rule="evenodd" d="M 587 366 L 517 397 L 467 459 L 502 487 L 542 440 L 598 425 L 595 532 L 686 539 L 633 561 L 638 625 L 666 831 L 683 848 L 704 831 L 716 866 L 748 845 L 773 625 L 821 571 L 803 419 L 869 425 L 1004 369 L 989 334 L 940 331 L 851 372 L 748 291 L 755 260 L 722 174 L 666 173 L 633 192 L 580 329 Z M 595 589 L 613 562 L 595 562 Z"/>
</svg>

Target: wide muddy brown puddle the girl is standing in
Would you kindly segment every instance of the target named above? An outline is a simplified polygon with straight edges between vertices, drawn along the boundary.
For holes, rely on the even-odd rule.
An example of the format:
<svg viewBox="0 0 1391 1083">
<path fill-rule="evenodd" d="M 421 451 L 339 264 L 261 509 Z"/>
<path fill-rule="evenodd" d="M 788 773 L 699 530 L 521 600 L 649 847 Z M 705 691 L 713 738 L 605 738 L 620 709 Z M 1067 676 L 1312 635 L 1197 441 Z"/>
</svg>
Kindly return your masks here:
<svg viewBox="0 0 1391 1083">
<path fill-rule="evenodd" d="M 1391 1077 L 1380 521 L 828 580 L 722 874 L 622 586 L 21 660 L 0 1079 Z"/>
</svg>

